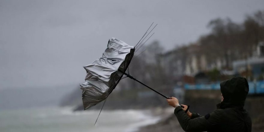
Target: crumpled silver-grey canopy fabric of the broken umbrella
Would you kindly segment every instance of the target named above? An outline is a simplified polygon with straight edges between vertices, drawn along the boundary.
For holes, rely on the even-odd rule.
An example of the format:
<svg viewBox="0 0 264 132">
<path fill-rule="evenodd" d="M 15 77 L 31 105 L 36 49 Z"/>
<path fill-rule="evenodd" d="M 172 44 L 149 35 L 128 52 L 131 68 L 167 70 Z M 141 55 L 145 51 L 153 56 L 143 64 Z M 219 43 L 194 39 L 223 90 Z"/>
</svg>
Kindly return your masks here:
<svg viewBox="0 0 264 132">
<path fill-rule="evenodd" d="M 134 46 L 112 38 L 103 56 L 85 66 L 85 82 L 81 85 L 84 110 L 104 101 L 116 87 L 134 55 Z"/>
</svg>

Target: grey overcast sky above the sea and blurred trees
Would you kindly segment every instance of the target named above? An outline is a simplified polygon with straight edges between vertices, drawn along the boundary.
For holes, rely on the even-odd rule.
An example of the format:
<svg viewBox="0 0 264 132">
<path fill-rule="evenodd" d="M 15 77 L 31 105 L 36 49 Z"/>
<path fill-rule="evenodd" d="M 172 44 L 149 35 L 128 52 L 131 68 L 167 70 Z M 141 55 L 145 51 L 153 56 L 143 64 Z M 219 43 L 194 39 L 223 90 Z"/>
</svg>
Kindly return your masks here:
<svg viewBox="0 0 264 132">
<path fill-rule="evenodd" d="M 0 89 L 82 83 L 82 66 L 101 57 L 108 39 L 134 45 L 152 22 L 149 42 L 169 50 L 208 33 L 211 19 L 242 22 L 263 9 L 263 0 L 0 0 Z"/>
</svg>

